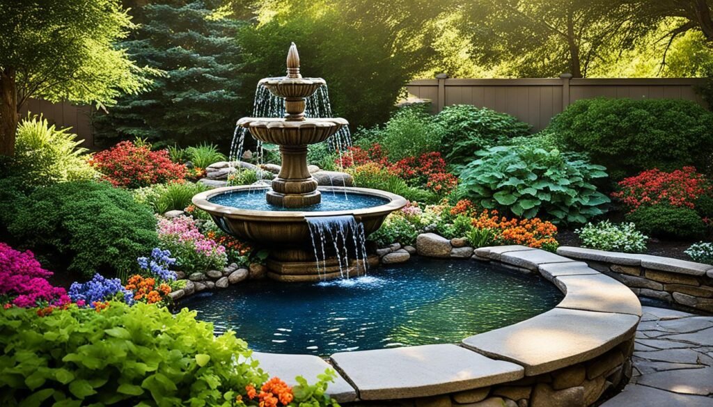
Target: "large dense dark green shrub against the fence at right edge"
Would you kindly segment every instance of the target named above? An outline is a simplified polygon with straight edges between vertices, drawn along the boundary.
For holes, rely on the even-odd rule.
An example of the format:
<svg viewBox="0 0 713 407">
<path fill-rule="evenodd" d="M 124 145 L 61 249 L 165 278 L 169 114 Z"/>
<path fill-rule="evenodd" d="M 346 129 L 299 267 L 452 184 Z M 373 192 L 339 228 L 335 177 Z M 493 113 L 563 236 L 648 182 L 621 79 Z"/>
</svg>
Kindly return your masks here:
<svg viewBox="0 0 713 407">
<path fill-rule="evenodd" d="M 553 118 L 548 131 L 617 180 L 650 168 L 711 170 L 713 113 L 692 101 L 585 99 Z"/>
</svg>

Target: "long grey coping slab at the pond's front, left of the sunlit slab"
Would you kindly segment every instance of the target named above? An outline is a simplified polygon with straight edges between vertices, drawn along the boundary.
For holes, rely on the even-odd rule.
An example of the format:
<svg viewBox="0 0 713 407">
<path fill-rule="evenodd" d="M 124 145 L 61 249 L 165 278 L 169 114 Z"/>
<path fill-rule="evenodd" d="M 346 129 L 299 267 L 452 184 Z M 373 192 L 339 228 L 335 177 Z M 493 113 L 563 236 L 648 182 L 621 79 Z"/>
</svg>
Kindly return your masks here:
<svg viewBox="0 0 713 407">
<path fill-rule="evenodd" d="M 408 346 L 332 355 L 361 400 L 435 396 L 523 377 L 523 367 L 452 344 Z"/>
</svg>

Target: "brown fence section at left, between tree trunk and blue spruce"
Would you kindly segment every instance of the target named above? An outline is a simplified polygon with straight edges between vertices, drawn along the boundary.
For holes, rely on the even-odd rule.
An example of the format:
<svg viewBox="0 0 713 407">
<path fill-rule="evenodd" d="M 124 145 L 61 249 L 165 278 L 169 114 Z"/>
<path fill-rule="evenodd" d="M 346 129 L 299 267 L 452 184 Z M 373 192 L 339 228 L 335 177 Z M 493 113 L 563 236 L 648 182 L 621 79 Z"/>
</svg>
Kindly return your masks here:
<svg viewBox="0 0 713 407">
<path fill-rule="evenodd" d="M 22 109 L 21 118 L 27 113 L 33 115 L 42 114 L 47 121 L 59 128 L 71 127 L 72 133 L 79 136 L 79 140 L 84 140 L 82 147 L 93 150 L 94 135 L 91 127 L 91 105 L 72 105 L 71 103 L 51 103 L 41 99 L 30 99 Z"/>
</svg>

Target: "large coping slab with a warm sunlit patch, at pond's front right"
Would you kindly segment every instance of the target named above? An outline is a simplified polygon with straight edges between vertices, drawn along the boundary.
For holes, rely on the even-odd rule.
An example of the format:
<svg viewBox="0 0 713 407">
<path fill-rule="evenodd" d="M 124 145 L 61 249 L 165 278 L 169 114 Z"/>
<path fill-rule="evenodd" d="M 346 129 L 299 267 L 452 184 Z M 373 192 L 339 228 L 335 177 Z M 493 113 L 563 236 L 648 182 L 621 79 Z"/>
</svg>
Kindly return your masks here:
<svg viewBox="0 0 713 407">
<path fill-rule="evenodd" d="M 463 344 L 481 354 L 525 367 L 536 376 L 588 361 L 635 334 L 630 314 L 555 308 L 518 324 L 470 336 Z"/>
</svg>

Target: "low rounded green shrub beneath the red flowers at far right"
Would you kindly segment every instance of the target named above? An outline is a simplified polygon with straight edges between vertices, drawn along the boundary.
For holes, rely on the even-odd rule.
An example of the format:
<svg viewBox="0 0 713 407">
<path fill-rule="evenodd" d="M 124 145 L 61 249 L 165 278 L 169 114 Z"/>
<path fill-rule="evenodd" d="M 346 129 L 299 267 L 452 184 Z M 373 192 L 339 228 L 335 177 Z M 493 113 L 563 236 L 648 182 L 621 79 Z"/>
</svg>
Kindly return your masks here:
<svg viewBox="0 0 713 407">
<path fill-rule="evenodd" d="M 706 231 L 701 217 L 687 207 L 640 207 L 626 215 L 626 220 L 634 222 L 639 230 L 653 237 L 698 239 Z"/>
</svg>

